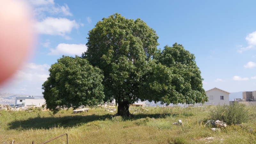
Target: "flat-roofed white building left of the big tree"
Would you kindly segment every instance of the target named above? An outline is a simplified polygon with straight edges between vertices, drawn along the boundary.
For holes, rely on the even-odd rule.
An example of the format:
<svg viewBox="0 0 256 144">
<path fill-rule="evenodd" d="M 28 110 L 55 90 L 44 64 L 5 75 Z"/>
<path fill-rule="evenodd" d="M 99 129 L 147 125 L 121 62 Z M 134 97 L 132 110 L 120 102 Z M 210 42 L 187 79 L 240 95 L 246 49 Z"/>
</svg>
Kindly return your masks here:
<svg viewBox="0 0 256 144">
<path fill-rule="evenodd" d="M 17 108 L 29 106 L 41 107 L 42 105 L 45 105 L 45 100 L 41 98 L 32 96 L 15 98 L 15 106 Z"/>
</svg>

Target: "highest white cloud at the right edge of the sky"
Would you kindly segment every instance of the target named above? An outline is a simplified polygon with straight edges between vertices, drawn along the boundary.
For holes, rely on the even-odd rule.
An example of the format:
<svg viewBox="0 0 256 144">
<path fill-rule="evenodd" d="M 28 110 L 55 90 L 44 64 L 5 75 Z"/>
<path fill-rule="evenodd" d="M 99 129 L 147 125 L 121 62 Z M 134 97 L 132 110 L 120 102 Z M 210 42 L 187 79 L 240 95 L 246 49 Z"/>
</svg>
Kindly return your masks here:
<svg viewBox="0 0 256 144">
<path fill-rule="evenodd" d="M 244 51 L 252 49 L 256 46 L 256 31 L 248 34 L 245 39 L 249 46 L 247 46 L 247 47 L 240 46 L 241 48 L 239 50 L 237 50 L 237 52 L 243 53 Z"/>
</svg>

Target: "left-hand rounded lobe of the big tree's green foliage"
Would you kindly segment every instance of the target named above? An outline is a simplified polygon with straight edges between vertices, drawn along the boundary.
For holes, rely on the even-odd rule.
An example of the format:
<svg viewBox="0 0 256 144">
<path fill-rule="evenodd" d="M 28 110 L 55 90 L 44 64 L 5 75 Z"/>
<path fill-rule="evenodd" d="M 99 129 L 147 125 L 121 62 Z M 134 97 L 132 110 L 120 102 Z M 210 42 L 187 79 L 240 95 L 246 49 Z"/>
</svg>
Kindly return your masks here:
<svg viewBox="0 0 256 144">
<path fill-rule="evenodd" d="M 49 69 L 50 76 L 42 85 L 46 106 L 54 113 L 60 108 L 94 106 L 104 99 L 99 68 L 86 59 L 62 56 Z"/>
</svg>

